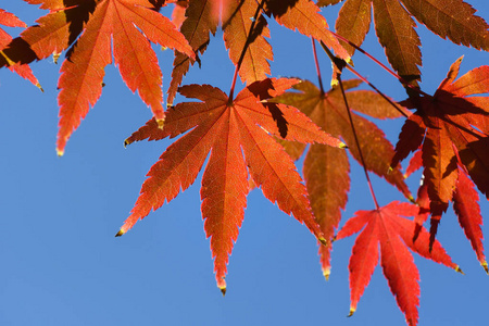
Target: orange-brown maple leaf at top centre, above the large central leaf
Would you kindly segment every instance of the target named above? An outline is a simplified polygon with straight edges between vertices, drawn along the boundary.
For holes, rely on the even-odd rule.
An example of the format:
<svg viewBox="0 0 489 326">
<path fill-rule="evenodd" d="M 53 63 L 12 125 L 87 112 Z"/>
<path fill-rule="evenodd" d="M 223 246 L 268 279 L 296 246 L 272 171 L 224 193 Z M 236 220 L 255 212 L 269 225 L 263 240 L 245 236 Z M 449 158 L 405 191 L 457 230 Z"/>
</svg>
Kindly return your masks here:
<svg viewBox="0 0 489 326">
<path fill-rule="evenodd" d="M 269 37 L 267 21 L 261 15 L 261 9 L 280 25 L 323 41 L 341 59 L 348 60 L 350 57 L 328 30 L 326 20 L 321 15 L 317 5 L 310 0 L 190 1 L 180 30 L 196 52 L 203 53 L 210 41 L 210 33 L 215 34 L 218 25 L 216 10 L 220 8 L 222 8 L 224 40 L 234 64 L 238 64 L 242 49 L 247 45 L 239 75 L 248 85 L 266 78 L 271 72 L 269 61 L 273 60 L 272 46 L 266 40 Z M 258 10 L 259 15 L 254 21 Z M 249 37 L 250 32 L 251 37 Z M 192 61 L 184 54 L 177 54 L 175 58 L 173 78 L 168 89 L 170 103 L 191 63 Z"/>
</svg>

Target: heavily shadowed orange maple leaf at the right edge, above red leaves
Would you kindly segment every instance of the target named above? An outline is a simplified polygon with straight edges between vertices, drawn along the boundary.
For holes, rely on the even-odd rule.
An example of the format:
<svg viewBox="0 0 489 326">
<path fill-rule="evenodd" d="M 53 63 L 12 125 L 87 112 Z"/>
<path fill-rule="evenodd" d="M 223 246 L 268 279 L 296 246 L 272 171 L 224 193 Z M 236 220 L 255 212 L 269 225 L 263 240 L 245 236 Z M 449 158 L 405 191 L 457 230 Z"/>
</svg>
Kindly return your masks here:
<svg viewBox="0 0 489 326">
<path fill-rule="evenodd" d="M 397 165 L 421 147 L 432 237 L 457 187 L 457 164 L 466 168 L 486 198 L 489 190 L 488 99 L 476 96 L 489 92 L 489 66 L 475 68 L 455 80 L 461 62 L 462 58 L 452 64 L 432 97 L 424 95 L 405 101 L 417 110 L 402 127 L 392 159 Z M 419 163 L 418 159 L 414 162 Z"/>
</svg>

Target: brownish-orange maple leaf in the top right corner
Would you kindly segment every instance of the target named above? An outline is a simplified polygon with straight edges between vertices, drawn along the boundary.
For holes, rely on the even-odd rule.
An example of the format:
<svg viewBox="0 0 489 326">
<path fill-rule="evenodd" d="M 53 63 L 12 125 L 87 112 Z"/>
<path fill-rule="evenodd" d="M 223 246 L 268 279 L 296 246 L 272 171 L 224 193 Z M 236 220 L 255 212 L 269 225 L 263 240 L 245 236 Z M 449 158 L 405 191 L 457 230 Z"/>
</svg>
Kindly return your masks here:
<svg viewBox="0 0 489 326">
<path fill-rule="evenodd" d="M 339 1 L 319 1 L 318 5 Z M 372 10 L 380 45 L 392 67 L 406 80 L 419 79 L 422 54 L 416 23 L 456 45 L 489 50 L 489 25 L 475 15 L 475 10 L 462 0 L 347 0 L 336 21 L 338 34 L 361 46 L 368 33 Z M 354 48 L 343 43 L 350 54 Z"/>
</svg>

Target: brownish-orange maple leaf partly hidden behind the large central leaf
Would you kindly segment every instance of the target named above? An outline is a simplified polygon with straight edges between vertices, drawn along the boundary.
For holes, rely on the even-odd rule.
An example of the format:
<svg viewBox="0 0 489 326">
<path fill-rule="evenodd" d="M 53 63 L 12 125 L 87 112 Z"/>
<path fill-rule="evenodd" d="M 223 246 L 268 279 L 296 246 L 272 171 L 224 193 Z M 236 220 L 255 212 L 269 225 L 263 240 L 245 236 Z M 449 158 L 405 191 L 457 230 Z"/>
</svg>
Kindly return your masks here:
<svg viewBox="0 0 489 326">
<path fill-rule="evenodd" d="M 347 80 L 343 82 L 343 87 L 351 89 L 361 83 L 359 79 Z M 335 137 L 342 137 L 349 145 L 353 158 L 361 163 L 340 87 L 323 93 L 312 83 L 303 82 L 293 88 L 296 92 L 286 92 L 271 101 L 296 106 L 326 133 Z M 346 95 L 349 106 L 363 114 L 376 118 L 401 116 L 399 111 L 373 91 L 353 90 Z M 399 166 L 389 172 L 394 151 L 384 133 L 374 123 L 359 114 L 352 113 L 352 117 L 365 159 L 365 167 L 384 177 L 405 197 L 412 199 Z M 304 146 L 301 143 L 289 142 L 285 145 L 285 148 L 293 159 L 298 159 L 304 150 Z M 303 175 L 311 206 L 327 240 L 333 239 L 341 218 L 341 210 L 344 210 L 348 202 L 349 173 L 350 166 L 346 151 L 323 145 L 311 146 L 305 156 Z M 326 278 L 330 273 L 330 242 L 319 247 L 321 264 Z"/>
</svg>

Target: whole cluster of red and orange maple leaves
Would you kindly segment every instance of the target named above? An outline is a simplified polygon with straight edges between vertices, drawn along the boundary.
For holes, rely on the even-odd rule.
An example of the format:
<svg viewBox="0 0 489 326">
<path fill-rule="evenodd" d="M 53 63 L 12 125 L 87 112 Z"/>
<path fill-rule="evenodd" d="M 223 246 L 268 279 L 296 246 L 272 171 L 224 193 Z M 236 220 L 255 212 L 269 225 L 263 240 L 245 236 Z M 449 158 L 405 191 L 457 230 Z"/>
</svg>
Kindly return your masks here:
<svg viewBox="0 0 489 326">
<path fill-rule="evenodd" d="M 319 8 L 340 0 L 24 1 L 49 12 L 15 39 L 0 29 L 0 67 L 39 85 L 28 64 L 50 55 L 58 61 L 65 52 L 58 85 L 58 154 L 63 154 L 66 141 L 100 98 L 104 67 L 112 61 L 153 114 L 125 145 L 185 134 L 149 171 L 117 236 L 173 200 L 180 189 L 186 190 L 210 155 L 201 186 L 202 217 L 223 293 L 247 195 L 253 187 L 260 187 L 269 201 L 293 214 L 318 239 L 326 277 L 333 241 L 360 233 L 350 260 L 351 313 L 369 283 L 380 249 L 391 291 L 408 324 L 417 324 L 419 275 L 408 248 L 460 271 L 435 237 L 451 201 L 480 264 L 488 269 L 475 186 L 488 198 L 489 101 L 484 93 L 489 92 L 489 66 L 456 78 L 460 59 L 434 96 L 418 86 L 422 53 L 413 17 L 454 43 L 489 50 L 489 26 L 464 1 L 346 0 L 336 22 L 337 34 L 329 30 Z M 160 13 L 167 4 L 174 5 L 172 18 Z M 351 57 L 368 33 L 372 11 L 378 39 L 396 71 L 392 74 L 408 90 L 409 98 L 400 103 L 378 92 L 353 90 L 361 79 L 341 80 L 341 68 L 354 72 Z M 269 77 L 271 20 L 321 42 L 336 65 L 339 84 L 325 91 L 319 72 L 319 87 L 306 80 Z M 0 24 L 25 27 L 3 10 Z M 200 64 L 211 35 L 220 27 L 236 66 L 229 93 L 210 85 L 180 87 L 190 67 Z M 175 50 L 166 111 L 162 72 L 151 42 Z M 235 96 L 238 75 L 246 87 Z M 293 91 L 287 91 L 289 88 Z M 173 105 L 177 92 L 199 101 Z M 353 111 L 380 120 L 404 116 L 396 148 L 375 123 Z M 375 209 L 356 212 L 337 233 L 350 188 L 342 141 L 364 166 L 368 183 L 368 172 L 373 172 L 412 203 L 391 202 L 380 208 L 372 190 Z M 293 161 L 306 143 L 311 145 L 303 183 Z M 424 168 L 417 200 L 405 185 L 400 165 L 411 152 L 406 175 Z M 429 215 L 428 231 L 423 224 Z"/>
</svg>

